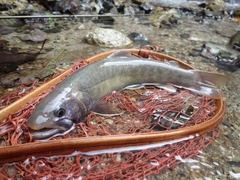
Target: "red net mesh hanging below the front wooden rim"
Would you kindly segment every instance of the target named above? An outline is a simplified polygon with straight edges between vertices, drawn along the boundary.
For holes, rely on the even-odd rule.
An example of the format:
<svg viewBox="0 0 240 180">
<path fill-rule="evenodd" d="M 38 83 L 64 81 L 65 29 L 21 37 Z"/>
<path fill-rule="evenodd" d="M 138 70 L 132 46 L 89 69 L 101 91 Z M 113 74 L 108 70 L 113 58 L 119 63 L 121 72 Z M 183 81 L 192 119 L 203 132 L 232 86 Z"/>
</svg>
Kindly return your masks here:
<svg viewBox="0 0 240 180">
<path fill-rule="evenodd" d="M 31 158 L 0 166 L 0 178 L 7 179 L 137 179 L 157 174 L 181 163 L 206 148 L 219 135 L 219 128 L 186 141 L 142 151 Z"/>
</svg>

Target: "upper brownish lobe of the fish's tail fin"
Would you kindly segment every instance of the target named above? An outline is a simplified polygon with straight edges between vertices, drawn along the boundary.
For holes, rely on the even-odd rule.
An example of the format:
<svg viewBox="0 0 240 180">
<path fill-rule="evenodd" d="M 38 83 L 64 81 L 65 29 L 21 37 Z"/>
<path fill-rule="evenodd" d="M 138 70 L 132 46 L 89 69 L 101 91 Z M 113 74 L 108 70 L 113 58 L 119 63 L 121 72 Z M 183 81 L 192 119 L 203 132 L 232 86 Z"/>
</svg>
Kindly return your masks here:
<svg viewBox="0 0 240 180">
<path fill-rule="evenodd" d="M 211 73 L 206 71 L 193 70 L 194 73 L 199 74 L 201 82 L 200 85 L 208 87 L 221 87 L 227 83 L 229 77 L 224 74 Z"/>
</svg>

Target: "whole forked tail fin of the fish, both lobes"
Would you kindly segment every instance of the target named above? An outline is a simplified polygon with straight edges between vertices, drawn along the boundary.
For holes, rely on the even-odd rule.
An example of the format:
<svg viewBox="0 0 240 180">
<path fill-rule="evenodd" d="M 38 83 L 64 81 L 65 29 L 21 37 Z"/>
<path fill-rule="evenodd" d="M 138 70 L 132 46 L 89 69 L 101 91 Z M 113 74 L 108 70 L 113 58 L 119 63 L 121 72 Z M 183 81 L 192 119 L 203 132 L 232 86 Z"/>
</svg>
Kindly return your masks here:
<svg viewBox="0 0 240 180">
<path fill-rule="evenodd" d="M 189 87 L 187 89 L 213 99 L 225 99 L 219 87 L 227 83 L 229 79 L 228 76 L 219 73 L 210 73 L 198 70 L 193 71 L 199 75 L 200 82 L 198 82 L 195 87 Z"/>
</svg>

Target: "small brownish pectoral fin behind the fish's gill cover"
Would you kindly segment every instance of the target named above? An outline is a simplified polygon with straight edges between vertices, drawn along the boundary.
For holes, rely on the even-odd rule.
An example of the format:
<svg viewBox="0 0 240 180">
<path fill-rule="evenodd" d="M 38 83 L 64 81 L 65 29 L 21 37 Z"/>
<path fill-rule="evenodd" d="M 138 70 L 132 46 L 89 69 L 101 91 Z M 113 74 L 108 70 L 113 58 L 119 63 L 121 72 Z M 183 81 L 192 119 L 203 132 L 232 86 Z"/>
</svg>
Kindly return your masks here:
<svg viewBox="0 0 240 180">
<path fill-rule="evenodd" d="M 101 116 L 116 116 L 123 113 L 121 109 L 114 106 L 112 103 L 97 103 L 91 108 L 91 111 Z"/>
</svg>

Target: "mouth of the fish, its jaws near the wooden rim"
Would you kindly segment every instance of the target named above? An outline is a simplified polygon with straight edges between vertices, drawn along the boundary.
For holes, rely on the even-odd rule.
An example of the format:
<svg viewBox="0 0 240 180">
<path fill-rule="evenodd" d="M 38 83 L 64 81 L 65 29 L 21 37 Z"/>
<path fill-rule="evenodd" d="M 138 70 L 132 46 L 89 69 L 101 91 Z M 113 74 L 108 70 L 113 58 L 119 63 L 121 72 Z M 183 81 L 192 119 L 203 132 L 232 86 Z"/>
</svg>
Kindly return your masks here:
<svg viewBox="0 0 240 180">
<path fill-rule="evenodd" d="M 56 122 L 56 125 L 51 127 L 45 127 L 39 130 L 31 129 L 30 133 L 34 140 L 49 140 L 56 136 L 63 136 L 74 129 L 73 121 L 69 119 L 61 119 Z"/>
</svg>

